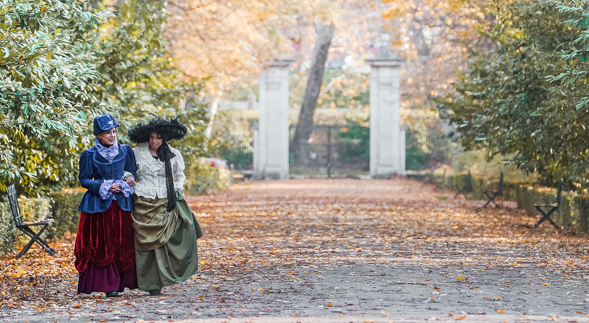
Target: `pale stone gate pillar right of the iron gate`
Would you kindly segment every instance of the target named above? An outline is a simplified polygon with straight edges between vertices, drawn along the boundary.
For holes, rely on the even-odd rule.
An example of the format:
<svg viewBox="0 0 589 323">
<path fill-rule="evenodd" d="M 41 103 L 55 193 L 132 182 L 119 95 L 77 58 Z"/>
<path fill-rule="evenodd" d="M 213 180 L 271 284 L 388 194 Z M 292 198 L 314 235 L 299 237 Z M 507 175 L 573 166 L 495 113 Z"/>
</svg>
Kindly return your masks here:
<svg viewBox="0 0 589 323">
<path fill-rule="evenodd" d="M 386 45 L 389 46 L 388 43 Z M 405 174 L 405 129 L 399 116 L 400 70 L 405 59 L 381 49 L 370 70 L 370 178 Z"/>
</svg>

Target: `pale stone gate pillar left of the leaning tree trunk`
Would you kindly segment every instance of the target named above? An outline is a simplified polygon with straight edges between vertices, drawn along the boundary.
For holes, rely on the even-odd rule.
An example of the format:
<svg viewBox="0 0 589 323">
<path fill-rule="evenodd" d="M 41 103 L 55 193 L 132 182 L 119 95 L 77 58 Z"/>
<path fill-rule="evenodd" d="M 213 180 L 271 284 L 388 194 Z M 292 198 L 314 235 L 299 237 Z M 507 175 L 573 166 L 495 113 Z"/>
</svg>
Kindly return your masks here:
<svg viewBox="0 0 589 323">
<path fill-rule="evenodd" d="M 274 59 L 260 75 L 253 179 L 289 178 L 289 69 L 293 61 Z"/>
</svg>

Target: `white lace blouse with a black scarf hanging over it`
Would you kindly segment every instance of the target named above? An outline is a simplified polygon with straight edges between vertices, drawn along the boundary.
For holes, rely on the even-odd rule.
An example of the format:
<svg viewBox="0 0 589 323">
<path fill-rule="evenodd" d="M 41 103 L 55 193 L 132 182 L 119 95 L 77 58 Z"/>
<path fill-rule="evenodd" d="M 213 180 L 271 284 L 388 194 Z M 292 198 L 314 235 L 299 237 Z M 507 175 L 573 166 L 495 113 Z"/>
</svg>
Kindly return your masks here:
<svg viewBox="0 0 589 323">
<path fill-rule="evenodd" d="M 184 191 L 184 159 L 178 150 L 170 146 L 176 156 L 170 160 L 174 190 Z M 166 198 L 166 170 L 164 162 L 155 159 L 149 152 L 148 143 L 133 148 L 137 163 L 137 183 L 133 186 L 135 194 L 147 198 Z M 126 176 L 127 174 L 123 175 Z"/>
</svg>

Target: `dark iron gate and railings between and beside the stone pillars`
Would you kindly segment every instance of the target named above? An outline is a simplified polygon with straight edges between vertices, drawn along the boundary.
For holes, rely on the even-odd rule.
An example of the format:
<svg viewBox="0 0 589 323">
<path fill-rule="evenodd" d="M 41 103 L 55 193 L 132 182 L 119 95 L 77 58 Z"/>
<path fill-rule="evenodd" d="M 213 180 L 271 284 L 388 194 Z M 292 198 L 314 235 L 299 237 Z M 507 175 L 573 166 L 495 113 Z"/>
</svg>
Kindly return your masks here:
<svg viewBox="0 0 589 323">
<path fill-rule="evenodd" d="M 366 177 L 370 163 L 370 129 L 359 125 L 313 125 L 305 156 L 296 156 L 292 142 L 297 125 L 290 126 L 289 167 L 291 177 Z M 227 160 L 231 170 L 253 169 L 251 136 L 223 136 L 216 157 Z M 406 132 L 405 169 L 428 171 L 451 165 L 459 147 L 443 133 Z"/>
</svg>

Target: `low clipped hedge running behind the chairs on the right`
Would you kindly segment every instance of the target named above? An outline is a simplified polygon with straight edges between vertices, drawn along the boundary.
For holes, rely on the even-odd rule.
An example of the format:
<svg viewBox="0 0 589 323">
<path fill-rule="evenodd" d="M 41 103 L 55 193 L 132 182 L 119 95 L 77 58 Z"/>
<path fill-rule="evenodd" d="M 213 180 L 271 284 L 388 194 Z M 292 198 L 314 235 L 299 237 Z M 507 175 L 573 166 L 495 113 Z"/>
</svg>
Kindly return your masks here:
<svg viewBox="0 0 589 323">
<path fill-rule="evenodd" d="M 464 185 L 464 174 L 427 174 L 413 176 L 435 183 L 438 189 L 454 190 L 456 185 Z M 469 200 L 482 198 L 484 190 L 497 189 L 499 179 L 471 176 L 472 190 L 466 194 Z M 505 179 L 503 181 L 503 196 L 499 199 L 516 201 L 518 208 L 523 208 L 530 216 L 539 214 L 534 204 L 554 203 L 557 189 L 554 187 L 538 186 L 533 183 L 521 183 Z M 561 203 L 558 210 L 550 217 L 556 224 L 571 231 L 589 233 L 589 195 L 577 194 L 573 191 L 562 191 Z M 543 226 L 550 223 L 542 223 Z"/>
</svg>

